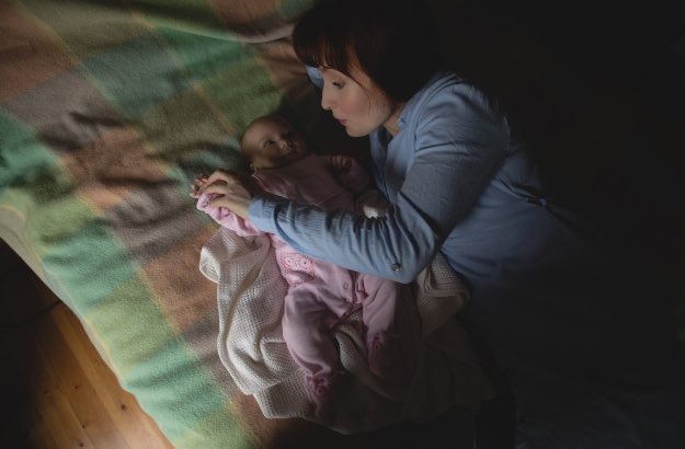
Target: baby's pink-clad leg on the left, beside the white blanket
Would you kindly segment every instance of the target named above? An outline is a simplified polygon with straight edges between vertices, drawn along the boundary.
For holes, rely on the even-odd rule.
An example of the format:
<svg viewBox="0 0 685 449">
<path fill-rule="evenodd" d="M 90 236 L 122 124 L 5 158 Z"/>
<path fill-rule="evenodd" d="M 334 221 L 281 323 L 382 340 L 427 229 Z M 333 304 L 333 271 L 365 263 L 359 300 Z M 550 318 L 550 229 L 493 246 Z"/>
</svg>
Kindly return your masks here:
<svg viewBox="0 0 685 449">
<path fill-rule="evenodd" d="M 317 414 L 322 415 L 344 371 L 330 334 L 330 327 L 339 316 L 313 293 L 311 287 L 290 287 L 285 297 L 283 337 L 295 361 L 307 371 L 309 399 Z"/>
</svg>

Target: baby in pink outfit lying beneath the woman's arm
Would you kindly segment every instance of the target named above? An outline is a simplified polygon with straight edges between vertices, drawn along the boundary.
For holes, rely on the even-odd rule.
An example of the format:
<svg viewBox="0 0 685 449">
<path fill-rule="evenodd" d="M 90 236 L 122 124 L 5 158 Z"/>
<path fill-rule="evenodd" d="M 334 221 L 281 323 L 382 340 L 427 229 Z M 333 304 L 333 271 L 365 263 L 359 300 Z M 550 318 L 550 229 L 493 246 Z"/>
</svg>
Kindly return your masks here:
<svg viewBox="0 0 685 449">
<path fill-rule="evenodd" d="M 283 117 L 256 118 L 248 126 L 241 148 L 250 160 L 252 177 L 264 191 L 299 204 L 327 210 L 355 210 L 354 195 L 368 184 L 368 175 L 345 156 L 316 156 Z M 263 234 L 230 210 L 214 208 L 215 194 L 197 195 L 206 183 L 193 183 L 197 208 L 239 235 Z M 283 316 L 283 337 L 297 364 L 307 372 L 307 390 L 317 415 L 330 406 L 335 384 L 344 379 L 335 343 L 329 334 L 341 319 L 362 309 L 366 326 L 369 369 L 380 379 L 404 379 L 399 338 L 395 329 L 398 285 L 298 253 L 269 234 L 283 277 L 288 283 Z"/>
</svg>

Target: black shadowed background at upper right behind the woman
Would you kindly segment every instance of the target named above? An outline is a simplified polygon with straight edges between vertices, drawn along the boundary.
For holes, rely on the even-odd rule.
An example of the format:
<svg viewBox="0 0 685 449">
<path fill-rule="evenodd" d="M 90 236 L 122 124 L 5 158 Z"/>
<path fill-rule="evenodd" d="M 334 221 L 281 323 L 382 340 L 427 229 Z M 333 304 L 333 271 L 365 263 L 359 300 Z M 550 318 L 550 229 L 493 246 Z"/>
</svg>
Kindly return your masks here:
<svg viewBox="0 0 685 449">
<path fill-rule="evenodd" d="M 685 14 L 678 2 L 429 0 L 448 66 L 506 111 L 553 200 L 685 321 Z M 628 278 L 630 277 L 630 278 Z M 683 336 L 681 336 L 683 339 Z"/>
</svg>

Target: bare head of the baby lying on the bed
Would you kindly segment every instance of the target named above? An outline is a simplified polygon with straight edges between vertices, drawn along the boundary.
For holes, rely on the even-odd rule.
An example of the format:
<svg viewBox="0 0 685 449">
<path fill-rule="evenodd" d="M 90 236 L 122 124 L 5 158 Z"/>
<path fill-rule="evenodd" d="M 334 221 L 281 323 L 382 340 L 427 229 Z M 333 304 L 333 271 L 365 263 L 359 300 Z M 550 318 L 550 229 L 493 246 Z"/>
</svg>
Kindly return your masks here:
<svg viewBox="0 0 685 449">
<path fill-rule="evenodd" d="M 307 156 L 302 138 L 279 115 L 254 119 L 242 135 L 240 147 L 253 171 L 286 166 Z"/>
</svg>

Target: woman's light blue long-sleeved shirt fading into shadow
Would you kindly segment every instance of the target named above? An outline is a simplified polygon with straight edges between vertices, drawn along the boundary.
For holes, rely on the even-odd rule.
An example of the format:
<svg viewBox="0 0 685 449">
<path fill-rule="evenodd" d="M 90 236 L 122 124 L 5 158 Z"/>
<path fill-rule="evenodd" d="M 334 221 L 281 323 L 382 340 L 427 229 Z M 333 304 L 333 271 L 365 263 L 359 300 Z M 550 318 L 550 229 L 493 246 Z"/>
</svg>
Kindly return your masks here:
<svg viewBox="0 0 685 449">
<path fill-rule="evenodd" d="M 437 73 L 407 103 L 399 128 L 392 139 L 385 128 L 370 135 L 374 179 L 392 204 L 386 217 L 260 195 L 250 220 L 305 254 L 401 283 L 438 250 L 475 289 L 548 262 L 544 246 L 562 230 L 506 118 L 481 92 Z"/>
</svg>

